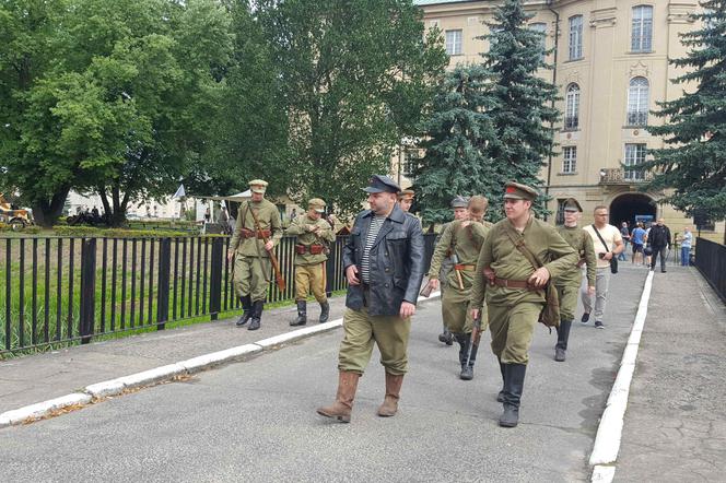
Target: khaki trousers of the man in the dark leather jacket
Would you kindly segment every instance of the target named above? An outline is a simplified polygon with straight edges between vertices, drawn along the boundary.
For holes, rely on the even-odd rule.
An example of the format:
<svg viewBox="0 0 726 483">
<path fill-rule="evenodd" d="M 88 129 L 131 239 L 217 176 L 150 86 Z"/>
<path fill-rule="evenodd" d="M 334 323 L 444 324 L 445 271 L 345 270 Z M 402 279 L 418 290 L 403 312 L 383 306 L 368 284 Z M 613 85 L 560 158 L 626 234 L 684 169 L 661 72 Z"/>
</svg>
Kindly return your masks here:
<svg viewBox="0 0 726 483">
<path fill-rule="evenodd" d="M 363 375 L 375 342 L 380 351 L 380 364 L 386 372 L 394 376 L 406 374 L 406 351 L 410 332 L 410 317 L 402 319 L 398 316 L 370 316 L 365 307 L 361 310 L 346 309 L 338 369 Z"/>
</svg>

